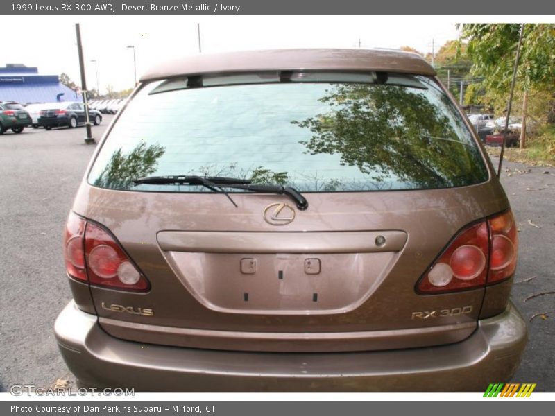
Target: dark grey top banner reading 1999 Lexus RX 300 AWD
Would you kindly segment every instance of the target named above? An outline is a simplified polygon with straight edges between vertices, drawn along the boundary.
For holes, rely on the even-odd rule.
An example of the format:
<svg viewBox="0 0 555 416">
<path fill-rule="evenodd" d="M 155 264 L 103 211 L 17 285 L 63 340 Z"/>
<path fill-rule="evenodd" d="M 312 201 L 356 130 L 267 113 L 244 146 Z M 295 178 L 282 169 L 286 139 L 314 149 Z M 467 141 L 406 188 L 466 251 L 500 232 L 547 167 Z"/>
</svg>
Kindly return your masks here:
<svg viewBox="0 0 555 416">
<path fill-rule="evenodd" d="M 527 0 L 5 0 L 0 15 L 555 15 Z"/>
</svg>

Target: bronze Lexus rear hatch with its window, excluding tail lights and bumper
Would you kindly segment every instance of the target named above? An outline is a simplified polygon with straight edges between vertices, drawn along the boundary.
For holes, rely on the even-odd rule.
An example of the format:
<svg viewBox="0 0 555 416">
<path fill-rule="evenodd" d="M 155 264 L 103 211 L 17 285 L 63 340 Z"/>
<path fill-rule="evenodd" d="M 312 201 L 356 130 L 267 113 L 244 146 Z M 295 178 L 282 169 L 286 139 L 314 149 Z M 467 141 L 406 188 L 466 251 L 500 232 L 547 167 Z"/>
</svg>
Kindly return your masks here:
<svg viewBox="0 0 555 416">
<path fill-rule="evenodd" d="M 106 227 L 151 288 L 91 286 L 101 326 L 145 343 L 253 351 L 466 338 L 483 288 L 415 290 L 461 228 L 507 207 L 461 114 L 426 77 L 289 76 L 156 81 L 128 103 L 74 211 Z M 173 175 L 282 184 L 309 207 L 133 182 Z M 445 309 L 463 312 L 421 318 Z"/>
</svg>

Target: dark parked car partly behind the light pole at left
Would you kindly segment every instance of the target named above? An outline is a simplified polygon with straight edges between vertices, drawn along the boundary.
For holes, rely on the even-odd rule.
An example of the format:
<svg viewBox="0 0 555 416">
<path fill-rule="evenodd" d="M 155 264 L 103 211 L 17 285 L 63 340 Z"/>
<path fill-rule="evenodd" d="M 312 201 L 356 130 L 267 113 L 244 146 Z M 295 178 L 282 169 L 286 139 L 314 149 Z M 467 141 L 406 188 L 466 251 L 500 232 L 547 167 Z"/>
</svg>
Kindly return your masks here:
<svg viewBox="0 0 555 416">
<path fill-rule="evenodd" d="M 89 120 L 94 125 L 102 122 L 102 114 L 96 110 L 89 109 Z M 76 128 L 79 124 L 85 123 L 85 106 L 83 103 L 53 103 L 47 109 L 40 111 L 38 119 L 39 125 L 50 130 L 53 127 L 67 125 L 69 128 Z"/>
</svg>

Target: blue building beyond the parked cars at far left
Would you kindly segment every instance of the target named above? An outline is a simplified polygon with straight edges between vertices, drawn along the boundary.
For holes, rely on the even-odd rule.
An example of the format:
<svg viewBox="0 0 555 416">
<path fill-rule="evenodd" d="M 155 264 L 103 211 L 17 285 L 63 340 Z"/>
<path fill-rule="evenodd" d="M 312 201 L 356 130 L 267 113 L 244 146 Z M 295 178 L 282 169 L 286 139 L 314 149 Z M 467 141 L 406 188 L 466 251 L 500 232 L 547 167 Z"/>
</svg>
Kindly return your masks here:
<svg viewBox="0 0 555 416">
<path fill-rule="evenodd" d="M 73 89 L 60 83 L 57 75 L 39 75 L 37 67 L 7 64 L 0 67 L 0 101 L 20 104 L 81 101 Z"/>
</svg>

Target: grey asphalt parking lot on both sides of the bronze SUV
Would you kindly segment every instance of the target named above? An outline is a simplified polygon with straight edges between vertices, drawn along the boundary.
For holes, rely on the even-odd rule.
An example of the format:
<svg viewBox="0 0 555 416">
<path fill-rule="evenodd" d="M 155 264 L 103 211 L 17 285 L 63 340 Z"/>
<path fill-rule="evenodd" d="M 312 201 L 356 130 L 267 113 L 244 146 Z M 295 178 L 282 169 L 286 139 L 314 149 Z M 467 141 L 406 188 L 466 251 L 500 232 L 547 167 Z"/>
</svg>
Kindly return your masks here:
<svg viewBox="0 0 555 416">
<path fill-rule="evenodd" d="M 96 139 L 111 119 L 92 128 Z M 13 383 L 49 386 L 72 379 L 58 354 L 53 322 L 71 299 L 62 228 L 94 151 L 84 137 L 85 128 L 0 136 L 0 391 Z M 530 329 L 514 381 L 555 391 L 555 168 L 506 162 L 502 182 L 520 229 L 512 298 Z"/>
</svg>

